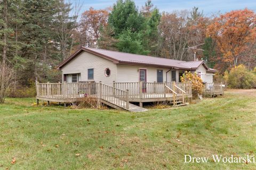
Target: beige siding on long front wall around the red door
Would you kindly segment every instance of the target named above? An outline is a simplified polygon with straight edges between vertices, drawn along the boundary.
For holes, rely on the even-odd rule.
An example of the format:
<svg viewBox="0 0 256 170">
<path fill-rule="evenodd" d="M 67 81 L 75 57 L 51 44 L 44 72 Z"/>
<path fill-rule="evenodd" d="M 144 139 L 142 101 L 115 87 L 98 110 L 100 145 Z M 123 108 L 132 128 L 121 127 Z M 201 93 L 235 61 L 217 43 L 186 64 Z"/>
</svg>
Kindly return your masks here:
<svg viewBox="0 0 256 170">
<path fill-rule="evenodd" d="M 147 70 L 147 82 L 157 82 L 157 70 L 163 70 L 163 81 L 166 81 L 166 72 L 170 69 L 161 67 L 147 67 L 117 64 L 117 82 L 138 82 L 139 69 Z M 167 82 L 171 82 L 171 71 L 167 73 Z"/>
</svg>

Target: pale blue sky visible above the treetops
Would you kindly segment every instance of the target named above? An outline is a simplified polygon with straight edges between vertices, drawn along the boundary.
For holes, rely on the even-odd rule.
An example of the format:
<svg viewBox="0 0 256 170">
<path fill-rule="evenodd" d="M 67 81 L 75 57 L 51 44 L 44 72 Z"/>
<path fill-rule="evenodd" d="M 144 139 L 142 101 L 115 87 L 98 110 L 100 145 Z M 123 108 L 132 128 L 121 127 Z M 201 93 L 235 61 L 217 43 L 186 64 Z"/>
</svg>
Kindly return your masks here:
<svg viewBox="0 0 256 170">
<path fill-rule="evenodd" d="M 88 10 L 90 7 L 95 9 L 113 6 L 116 0 L 66 0 L 71 3 L 81 4 L 81 12 Z M 145 5 L 146 0 L 134 1 L 141 8 Z M 199 7 L 205 15 L 210 16 L 213 13 L 225 13 L 231 10 L 239 10 L 245 7 L 256 11 L 256 0 L 152 0 L 152 3 L 159 8 L 161 12 L 172 12 L 174 10 L 191 10 L 193 6 Z"/>
</svg>

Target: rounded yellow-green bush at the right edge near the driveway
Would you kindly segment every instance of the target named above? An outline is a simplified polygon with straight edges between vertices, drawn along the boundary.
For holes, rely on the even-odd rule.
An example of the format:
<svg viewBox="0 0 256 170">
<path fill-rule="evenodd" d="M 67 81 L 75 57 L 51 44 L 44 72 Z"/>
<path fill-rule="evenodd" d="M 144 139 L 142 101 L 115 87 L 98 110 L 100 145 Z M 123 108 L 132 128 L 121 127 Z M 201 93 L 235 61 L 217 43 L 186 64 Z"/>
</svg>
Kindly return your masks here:
<svg viewBox="0 0 256 170">
<path fill-rule="evenodd" d="M 224 78 L 229 88 L 251 89 L 256 88 L 256 74 L 246 69 L 244 65 L 233 67 L 230 72 L 225 72 Z"/>
</svg>

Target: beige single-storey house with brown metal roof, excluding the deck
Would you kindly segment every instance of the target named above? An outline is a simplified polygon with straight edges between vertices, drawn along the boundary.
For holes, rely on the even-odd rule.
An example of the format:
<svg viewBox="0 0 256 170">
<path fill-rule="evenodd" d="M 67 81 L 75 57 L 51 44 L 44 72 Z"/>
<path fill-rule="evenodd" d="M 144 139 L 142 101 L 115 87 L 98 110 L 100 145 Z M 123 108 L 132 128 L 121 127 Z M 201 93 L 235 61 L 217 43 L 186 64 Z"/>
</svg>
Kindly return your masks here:
<svg viewBox="0 0 256 170">
<path fill-rule="evenodd" d="M 185 71 L 196 72 L 203 82 L 212 83 L 217 70 L 204 61 L 178 61 L 146 55 L 115 52 L 98 48 L 77 50 L 58 68 L 62 82 L 180 82 Z"/>
</svg>

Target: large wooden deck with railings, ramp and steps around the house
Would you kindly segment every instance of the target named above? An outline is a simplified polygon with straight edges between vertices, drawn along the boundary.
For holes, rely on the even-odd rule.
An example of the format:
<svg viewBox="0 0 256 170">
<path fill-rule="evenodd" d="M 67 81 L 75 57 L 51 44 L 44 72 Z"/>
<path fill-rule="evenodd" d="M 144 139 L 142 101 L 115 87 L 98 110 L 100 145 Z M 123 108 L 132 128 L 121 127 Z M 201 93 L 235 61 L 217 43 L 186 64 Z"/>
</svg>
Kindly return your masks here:
<svg viewBox="0 0 256 170">
<path fill-rule="evenodd" d="M 86 97 L 99 99 L 117 109 L 131 112 L 146 111 L 142 103 L 170 101 L 173 105 L 185 104 L 192 97 L 191 83 L 149 83 L 149 82 L 113 82 L 113 86 L 99 83 L 36 83 L 37 101 L 45 100 L 74 103 Z M 139 106 L 130 104 L 138 102 Z"/>
</svg>

